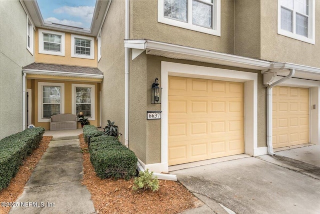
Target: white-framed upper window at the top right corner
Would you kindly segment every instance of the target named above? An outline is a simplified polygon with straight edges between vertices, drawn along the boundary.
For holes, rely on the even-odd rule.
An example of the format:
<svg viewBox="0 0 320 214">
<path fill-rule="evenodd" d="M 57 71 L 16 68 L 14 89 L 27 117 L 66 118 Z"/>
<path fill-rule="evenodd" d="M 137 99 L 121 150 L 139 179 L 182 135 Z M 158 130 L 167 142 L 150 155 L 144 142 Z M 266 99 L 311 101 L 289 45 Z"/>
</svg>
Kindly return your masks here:
<svg viewBox="0 0 320 214">
<path fill-rule="evenodd" d="M 314 0 L 278 0 L 278 34 L 314 44 Z"/>
</svg>

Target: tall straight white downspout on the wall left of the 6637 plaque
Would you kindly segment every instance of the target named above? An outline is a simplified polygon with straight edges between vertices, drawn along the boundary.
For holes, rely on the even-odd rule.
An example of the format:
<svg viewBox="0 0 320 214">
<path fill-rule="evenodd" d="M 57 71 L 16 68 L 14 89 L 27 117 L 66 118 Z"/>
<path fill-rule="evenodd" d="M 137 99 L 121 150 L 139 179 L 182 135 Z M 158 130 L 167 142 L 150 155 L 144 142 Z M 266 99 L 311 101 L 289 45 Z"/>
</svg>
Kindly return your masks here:
<svg viewBox="0 0 320 214">
<path fill-rule="evenodd" d="M 125 0 L 124 39 L 129 39 L 129 0 Z M 129 48 L 124 51 L 124 145 L 129 147 Z"/>
</svg>

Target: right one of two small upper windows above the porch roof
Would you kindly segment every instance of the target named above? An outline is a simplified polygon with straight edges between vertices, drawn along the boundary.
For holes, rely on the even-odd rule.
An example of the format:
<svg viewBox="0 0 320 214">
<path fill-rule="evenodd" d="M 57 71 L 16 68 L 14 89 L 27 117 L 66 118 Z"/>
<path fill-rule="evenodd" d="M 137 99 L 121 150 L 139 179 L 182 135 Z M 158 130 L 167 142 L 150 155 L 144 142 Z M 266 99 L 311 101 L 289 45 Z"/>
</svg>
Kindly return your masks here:
<svg viewBox="0 0 320 214">
<path fill-rule="evenodd" d="M 94 59 L 93 38 L 71 35 L 71 57 Z"/>
</svg>

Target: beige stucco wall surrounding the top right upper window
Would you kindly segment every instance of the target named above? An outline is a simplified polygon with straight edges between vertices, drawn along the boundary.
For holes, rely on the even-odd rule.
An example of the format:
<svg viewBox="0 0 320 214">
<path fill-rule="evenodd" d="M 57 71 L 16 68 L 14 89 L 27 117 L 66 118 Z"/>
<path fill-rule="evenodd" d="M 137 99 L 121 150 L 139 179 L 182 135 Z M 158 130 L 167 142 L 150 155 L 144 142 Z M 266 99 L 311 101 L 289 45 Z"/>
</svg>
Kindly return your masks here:
<svg viewBox="0 0 320 214">
<path fill-rule="evenodd" d="M 261 59 L 320 67 L 320 1 L 315 3 L 315 45 L 277 34 L 277 1 L 261 1 Z"/>
</svg>

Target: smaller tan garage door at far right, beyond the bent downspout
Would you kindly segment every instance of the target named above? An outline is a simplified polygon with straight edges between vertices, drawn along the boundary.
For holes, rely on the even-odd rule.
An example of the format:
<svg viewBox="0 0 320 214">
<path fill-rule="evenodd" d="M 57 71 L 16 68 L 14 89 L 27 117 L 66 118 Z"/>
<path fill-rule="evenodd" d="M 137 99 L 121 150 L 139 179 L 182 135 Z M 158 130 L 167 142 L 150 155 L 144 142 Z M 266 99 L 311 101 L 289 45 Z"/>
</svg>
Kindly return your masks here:
<svg viewBox="0 0 320 214">
<path fill-rule="evenodd" d="M 276 86 L 272 89 L 273 148 L 309 142 L 309 89 Z"/>
</svg>

